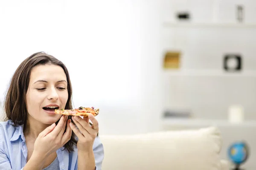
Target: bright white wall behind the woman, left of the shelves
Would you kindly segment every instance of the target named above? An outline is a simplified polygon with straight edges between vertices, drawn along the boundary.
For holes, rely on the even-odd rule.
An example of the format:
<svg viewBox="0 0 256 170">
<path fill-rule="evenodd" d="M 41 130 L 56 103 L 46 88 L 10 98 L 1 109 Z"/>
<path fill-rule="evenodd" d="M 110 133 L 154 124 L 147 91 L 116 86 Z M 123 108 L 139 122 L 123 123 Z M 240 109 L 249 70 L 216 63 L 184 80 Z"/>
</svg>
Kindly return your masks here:
<svg viewBox="0 0 256 170">
<path fill-rule="evenodd" d="M 20 62 L 45 51 L 67 65 L 74 106 L 100 108 L 102 134 L 156 130 L 159 5 L 153 0 L 0 1 L 1 98 Z"/>
</svg>

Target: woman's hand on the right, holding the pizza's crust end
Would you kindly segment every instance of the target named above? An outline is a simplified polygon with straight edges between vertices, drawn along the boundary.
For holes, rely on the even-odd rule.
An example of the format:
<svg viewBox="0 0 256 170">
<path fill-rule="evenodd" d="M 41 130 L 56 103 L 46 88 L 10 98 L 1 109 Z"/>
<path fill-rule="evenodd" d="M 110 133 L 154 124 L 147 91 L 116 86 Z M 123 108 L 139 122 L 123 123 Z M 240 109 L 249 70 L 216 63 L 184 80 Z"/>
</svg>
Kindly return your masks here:
<svg viewBox="0 0 256 170">
<path fill-rule="evenodd" d="M 78 127 L 70 122 L 70 127 L 73 132 L 78 137 L 77 149 L 78 151 L 90 152 L 93 150 L 93 142 L 99 132 L 99 124 L 95 119 L 93 114 L 89 114 L 88 117 L 84 117 L 83 119 L 80 116 L 72 117 L 74 123 Z M 89 119 L 93 123 L 93 126 L 90 126 Z"/>
</svg>

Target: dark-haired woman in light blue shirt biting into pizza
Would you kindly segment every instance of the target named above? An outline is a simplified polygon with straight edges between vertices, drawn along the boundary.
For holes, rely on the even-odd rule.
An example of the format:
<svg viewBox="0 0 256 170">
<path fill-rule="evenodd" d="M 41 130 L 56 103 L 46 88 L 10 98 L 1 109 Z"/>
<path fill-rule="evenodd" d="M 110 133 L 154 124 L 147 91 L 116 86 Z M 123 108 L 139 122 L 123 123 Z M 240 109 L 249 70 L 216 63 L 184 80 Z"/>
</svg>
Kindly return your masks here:
<svg viewBox="0 0 256 170">
<path fill-rule="evenodd" d="M 101 169 L 104 150 L 95 117 L 54 114 L 56 107 L 72 109 L 71 97 L 69 73 L 55 57 L 39 52 L 19 65 L 0 122 L 0 170 Z"/>
</svg>

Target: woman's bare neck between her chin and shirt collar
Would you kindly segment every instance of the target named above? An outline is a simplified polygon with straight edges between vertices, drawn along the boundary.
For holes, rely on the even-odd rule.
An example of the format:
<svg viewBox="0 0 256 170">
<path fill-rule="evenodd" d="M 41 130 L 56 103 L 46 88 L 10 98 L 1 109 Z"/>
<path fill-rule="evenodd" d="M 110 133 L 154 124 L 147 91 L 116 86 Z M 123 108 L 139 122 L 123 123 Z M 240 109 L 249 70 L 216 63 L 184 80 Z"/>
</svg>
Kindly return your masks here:
<svg viewBox="0 0 256 170">
<path fill-rule="evenodd" d="M 49 125 L 42 124 L 37 120 L 33 119 L 31 116 L 28 116 L 27 122 L 24 125 L 23 133 L 25 137 L 29 137 L 30 139 L 36 139 L 45 128 Z"/>
</svg>

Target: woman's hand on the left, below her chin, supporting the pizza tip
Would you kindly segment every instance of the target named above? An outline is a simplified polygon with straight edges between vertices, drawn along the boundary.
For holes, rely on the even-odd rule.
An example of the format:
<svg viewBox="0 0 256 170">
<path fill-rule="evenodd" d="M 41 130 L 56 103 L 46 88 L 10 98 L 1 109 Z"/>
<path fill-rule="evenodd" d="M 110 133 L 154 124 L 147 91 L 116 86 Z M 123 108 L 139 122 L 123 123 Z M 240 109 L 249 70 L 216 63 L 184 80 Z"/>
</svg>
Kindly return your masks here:
<svg viewBox="0 0 256 170">
<path fill-rule="evenodd" d="M 51 153 L 63 147 L 71 138 L 72 130 L 70 128 L 70 122 L 70 119 L 67 120 L 67 115 L 62 115 L 58 125 L 55 125 L 54 123 L 39 133 L 35 140 L 32 155 L 36 154 L 40 157 L 46 158 Z M 64 133 L 66 125 L 67 130 Z"/>
</svg>

